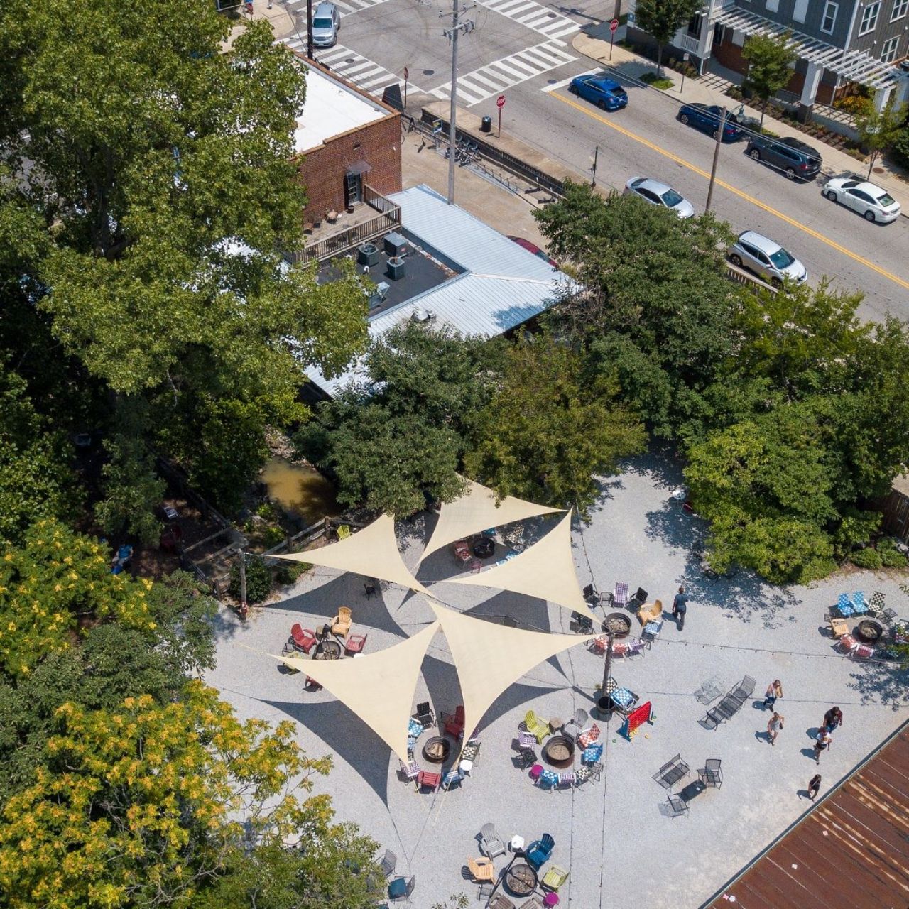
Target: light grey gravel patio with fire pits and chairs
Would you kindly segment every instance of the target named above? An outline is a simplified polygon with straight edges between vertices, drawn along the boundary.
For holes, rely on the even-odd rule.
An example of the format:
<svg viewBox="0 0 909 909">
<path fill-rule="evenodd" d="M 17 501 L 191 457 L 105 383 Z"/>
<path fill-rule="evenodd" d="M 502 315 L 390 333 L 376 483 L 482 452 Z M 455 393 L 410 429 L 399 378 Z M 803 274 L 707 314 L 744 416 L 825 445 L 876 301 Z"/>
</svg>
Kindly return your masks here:
<svg viewBox="0 0 909 909">
<path fill-rule="evenodd" d="M 594 706 L 603 657 L 579 637 L 578 646 L 539 664 L 494 703 L 480 727 L 479 759 L 460 787 L 417 793 L 405 783 L 395 755 L 343 704 L 327 691 L 304 691 L 301 674 L 262 655 L 280 654 L 295 622 L 318 627 L 339 605 L 353 609 L 354 631 L 368 634 L 366 653 L 433 620 L 423 597 L 400 588 L 367 599 L 364 579 L 355 574 L 315 568 L 291 595 L 254 609 L 245 624 L 223 610 L 218 664 L 206 681 L 240 717 L 273 723 L 291 718 L 309 754 L 334 755 L 334 769 L 316 781 L 316 792 L 332 794 L 338 820 L 355 821 L 397 855 L 395 874 L 415 875 L 412 905 L 428 909 L 457 893 L 474 900 L 478 887 L 464 866 L 468 857 L 480 855 L 480 827 L 493 822 L 506 843 L 514 834 L 528 844 L 544 833 L 554 836 L 552 863 L 570 871 L 559 890 L 560 905 L 698 906 L 807 809 L 800 791 L 815 772 L 823 776 L 823 794 L 909 715 L 907 675 L 890 664 L 847 658 L 823 621 L 844 591 L 882 591 L 901 618 L 909 618 L 909 597 L 900 592 L 896 574 L 854 572 L 791 588 L 770 587 L 744 573 L 705 577 L 694 554 L 704 524 L 671 497 L 681 483 L 672 468 L 667 471 L 655 456 L 635 460 L 623 475 L 604 481 L 590 524 L 574 522 L 574 563 L 582 585 L 593 582 L 604 592 L 617 581 L 628 582 L 633 592 L 641 586 L 649 599 L 662 599 L 666 612 L 678 584 L 691 595 L 683 631 L 669 615 L 649 650 L 614 660 L 619 684 L 641 703 L 653 703 L 654 723 L 631 742 L 618 734 L 617 719 L 600 723 L 605 770 L 599 782 L 548 792 L 515 764 L 513 741 L 528 709 L 544 720 L 568 720 L 576 708 Z M 530 525 L 537 532 L 550 526 Z M 398 524 L 412 570 L 430 531 L 423 520 Z M 446 547 L 426 560 L 418 576 L 428 583 L 460 570 Z M 457 584 L 440 584 L 434 594 L 473 615 L 509 615 L 522 627 L 569 632 L 569 611 L 540 600 Z M 632 634 L 638 633 L 634 620 Z M 695 693 L 704 684 L 725 693 L 745 675 L 756 679 L 754 699 L 714 731 L 704 729 L 698 721 L 705 705 Z M 771 747 L 761 700 L 774 678 L 784 685 L 776 709 L 785 727 Z M 426 699 L 436 714 L 461 703 L 441 632 L 427 651 L 415 701 Z M 844 724 L 818 768 L 813 734 L 834 704 L 843 710 Z M 674 794 L 697 780 L 706 758 L 721 759 L 723 769 L 722 788 L 696 794 L 689 812 L 678 817 L 669 813 L 667 793 L 653 779 L 675 754 L 691 774 Z M 417 761 L 424 763 L 419 752 Z M 497 871 L 508 857 L 496 859 Z"/>
</svg>

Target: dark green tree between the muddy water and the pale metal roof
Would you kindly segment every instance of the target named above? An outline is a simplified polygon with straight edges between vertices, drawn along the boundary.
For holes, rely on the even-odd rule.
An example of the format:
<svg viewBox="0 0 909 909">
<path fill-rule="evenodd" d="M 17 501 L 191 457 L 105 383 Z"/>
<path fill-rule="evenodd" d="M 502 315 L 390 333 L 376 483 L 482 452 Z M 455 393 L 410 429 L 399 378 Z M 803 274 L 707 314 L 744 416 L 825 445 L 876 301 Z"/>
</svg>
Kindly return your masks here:
<svg viewBox="0 0 909 909">
<path fill-rule="evenodd" d="M 501 345 L 408 323 L 374 340 L 364 378 L 296 441 L 301 454 L 335 475 L 338 501 L 399 516 L 450 501 L 465 438 L 494 391 Z"/>
</svg>

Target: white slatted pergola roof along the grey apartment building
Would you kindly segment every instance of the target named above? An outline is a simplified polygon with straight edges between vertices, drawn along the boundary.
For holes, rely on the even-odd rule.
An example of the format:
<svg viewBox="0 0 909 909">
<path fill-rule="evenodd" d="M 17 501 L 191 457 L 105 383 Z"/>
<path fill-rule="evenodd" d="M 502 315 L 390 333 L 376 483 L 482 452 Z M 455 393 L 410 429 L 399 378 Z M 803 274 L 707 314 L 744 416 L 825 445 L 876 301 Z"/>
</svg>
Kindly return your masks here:
<svg viewBox="0 0 909 909">
<path fill-rule="evenodd" d="M 795 32 L 786 25 L 738 6 L 725 6 L 717 13 L 714 22 L 728 25 L 744 35 L 774 35 L 778 38 L 788 36 L 786 46 L 791 47 L 803 60 L 824 66 L 824 69 L 861 85 L 882 88 L 900 76 L 899 70 L 892 63 L 882 63 L 864 51 L 844 51 L 842 47 Z"/>
</svg>

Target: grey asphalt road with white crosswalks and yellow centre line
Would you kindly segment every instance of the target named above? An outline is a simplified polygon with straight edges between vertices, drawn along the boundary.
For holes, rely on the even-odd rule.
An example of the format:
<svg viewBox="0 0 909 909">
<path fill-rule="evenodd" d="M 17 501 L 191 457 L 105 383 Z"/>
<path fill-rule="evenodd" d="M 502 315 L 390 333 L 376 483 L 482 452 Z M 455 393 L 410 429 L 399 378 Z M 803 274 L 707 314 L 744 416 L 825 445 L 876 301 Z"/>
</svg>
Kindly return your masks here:
<svg viewBox="0 0 909 909">
<path fill-rule="evenodd" d="M 320 51 L 320 60 L 378 93 L 390 77 L 403 80 L 407 66 L 411 92 L 449 97 L 451 53 L 443 28 L 451 22 L 450 5 L 438 0 L 345 0 L 345 5 L 350 9 L 343 8 L 339 45 Z M 624 82 L 630 103 L 608 114 L 567 92 L 564 84 L 572 76 L 600 68 L 571 45 L 577 27 L 591 21 L 596 9 L 534 0 L 484 0 L 475 6 L 466 15 L 474 20 L 474 31 L 459 42 L 459 105 L 495 119 L 495 98 L 504 94 L 504 132 L 580 175 L 589 174 L 598 145 L 598 185 L 621 189 L 631 176 L 654 176 L 703 211 L 714 143 L 677 122 L 677 102 Z M 791 183 L 752 161 L 744 155 L 744 142 L 723 146 L 717 177 L 714 211 L 736 232 L 752 229 L 773 237 L 804 262 L 812 282 L 827 276 L 836 286 L 862 291 L 865 317 L 890 312 L 909 320 L 909 219 L 869 225 L 824 199 L 820 182 Z"/>
</svg>

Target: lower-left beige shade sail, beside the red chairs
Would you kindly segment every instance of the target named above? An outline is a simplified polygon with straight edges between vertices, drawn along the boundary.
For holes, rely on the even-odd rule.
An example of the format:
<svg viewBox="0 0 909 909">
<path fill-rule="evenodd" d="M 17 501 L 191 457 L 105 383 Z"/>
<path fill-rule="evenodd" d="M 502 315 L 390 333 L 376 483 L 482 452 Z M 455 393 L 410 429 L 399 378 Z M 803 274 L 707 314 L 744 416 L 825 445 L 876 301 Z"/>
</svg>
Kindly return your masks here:
<svg viewBox="0 0 909 909">
<path fill-rule="evenodd" d="M 269 655 L 315 679 L 406 763 L 407 721 L 413 713 L 416 681 L 426 648 L 438 629 L 439 623 L 434 622 L 400 644 L 352 660 Z"/>
</svg>

